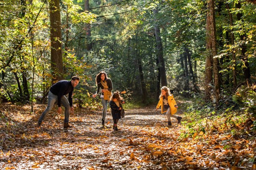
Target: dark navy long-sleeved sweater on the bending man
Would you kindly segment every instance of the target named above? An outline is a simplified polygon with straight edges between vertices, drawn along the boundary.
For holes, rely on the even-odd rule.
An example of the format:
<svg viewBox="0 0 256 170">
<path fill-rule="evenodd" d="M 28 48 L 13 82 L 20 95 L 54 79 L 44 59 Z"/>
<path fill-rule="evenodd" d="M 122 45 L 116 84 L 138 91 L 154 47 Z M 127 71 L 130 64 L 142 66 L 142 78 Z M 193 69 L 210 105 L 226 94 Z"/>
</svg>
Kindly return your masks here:
<svg viewBox="0 0 256 170">
<path fill-rule="evenodd" d="M 64 95 L 69 94 L 69 105 L 70 107 L 73 106 L 73 101 L 72 101 L 72 93 L 73 93 L 74 87 L 71 84 L 71 81 L 67 80 L 61 80 L 52 85 L 50 88 L 50 91 L 52 94 L 58 96 L 58 107 L 60 107 L 60 101 L 61 97 Z"/>
</svg>

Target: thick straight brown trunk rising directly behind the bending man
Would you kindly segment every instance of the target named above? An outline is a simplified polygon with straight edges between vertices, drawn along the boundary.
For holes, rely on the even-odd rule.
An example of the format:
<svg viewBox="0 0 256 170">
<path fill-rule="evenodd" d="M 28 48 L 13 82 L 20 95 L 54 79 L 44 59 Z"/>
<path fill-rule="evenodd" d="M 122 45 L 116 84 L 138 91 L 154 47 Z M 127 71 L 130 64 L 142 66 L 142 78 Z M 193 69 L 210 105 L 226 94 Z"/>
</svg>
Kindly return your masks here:
<svg viewBox="0 0 256 170">
<path fill-rule="evenodd" d="M 63 80 L 61 20 L 59 0 L 49 0 L 52 83 Z"/>
</svg>

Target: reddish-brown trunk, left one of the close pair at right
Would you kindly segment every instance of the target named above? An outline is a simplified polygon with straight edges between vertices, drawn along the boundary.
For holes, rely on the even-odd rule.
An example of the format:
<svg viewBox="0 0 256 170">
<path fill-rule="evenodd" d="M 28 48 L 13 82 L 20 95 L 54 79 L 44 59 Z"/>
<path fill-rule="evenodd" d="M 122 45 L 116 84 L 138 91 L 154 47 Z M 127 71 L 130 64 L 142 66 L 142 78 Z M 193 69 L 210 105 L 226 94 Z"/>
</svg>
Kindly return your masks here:
<svg viewBox="0 0 256 170">
<path fill-rule="evenodd" d="M 204 93 L 205 101 L 209 102 L 211 100 L 211 87 L 209 84 L 212 82 L 212 41 L 211 41 L 211 18 L 210 18 L 210 2 L 207 3 L 207 15 L 206 15 L 206 50 L 207 56 L 205 59 L 205 84 Z"/>
</svg>

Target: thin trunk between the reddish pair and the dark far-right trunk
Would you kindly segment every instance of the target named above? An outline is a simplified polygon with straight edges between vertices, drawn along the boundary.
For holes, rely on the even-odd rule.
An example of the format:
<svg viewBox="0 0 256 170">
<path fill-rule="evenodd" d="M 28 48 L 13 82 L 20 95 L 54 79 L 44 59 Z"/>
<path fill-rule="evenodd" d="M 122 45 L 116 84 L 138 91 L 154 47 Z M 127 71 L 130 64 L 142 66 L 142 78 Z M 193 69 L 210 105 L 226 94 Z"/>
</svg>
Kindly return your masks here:
<svg viewBox="0 0 256 170">
<path fill-rule="evenodd" d="M 226 4 L 226 7 L 228 9 L 228 14 L 229 14 L 229 24 L 230 26 L 233 26 L 233 16 L 232 14 L 230 13 L 230 7 L 229 7 L 229 4 Z M 232 33 L 232 30 L 230 30 L 230 44 L 231 45 L 234 45 L 234 34 Z M 232 73 L 233 73 L 233 86 L 234 88 L 237 87 L 237 66 L 236 66 L 236 54 L 232 51 Z"/>
</svg>

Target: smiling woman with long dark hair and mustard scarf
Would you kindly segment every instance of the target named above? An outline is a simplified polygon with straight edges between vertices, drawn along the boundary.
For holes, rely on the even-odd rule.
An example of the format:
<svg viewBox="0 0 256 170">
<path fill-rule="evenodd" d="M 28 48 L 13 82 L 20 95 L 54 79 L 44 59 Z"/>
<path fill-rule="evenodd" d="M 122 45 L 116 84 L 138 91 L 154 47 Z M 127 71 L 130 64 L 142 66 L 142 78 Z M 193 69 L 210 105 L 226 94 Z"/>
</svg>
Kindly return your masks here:
<svg viewBox="0 0 256 170">
<path fill-rule="evenodd" d="M 109 101 L 109 97 L 112 95 L 111 90 L 113 90 L 112 81 L 106 76 L 106 73 L 104 71 L 101 71 L 99 74 L 96 75 L 96 84 L 97 84 L 97 92 L 93 95 L 93 98 L 95 98 L 101 89 L 101 101 L 103 106 L 103 112 L 102 112 L 102 125 L 104 126 L 105 123 L 105 117 L 106 117 L 106 111 L 107 111 L 107 103 Z"/>
</svg>

